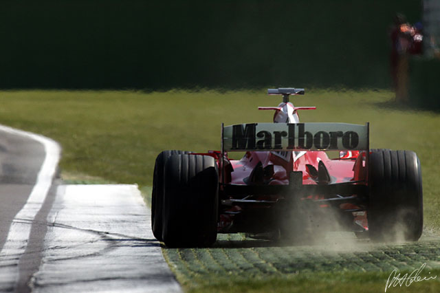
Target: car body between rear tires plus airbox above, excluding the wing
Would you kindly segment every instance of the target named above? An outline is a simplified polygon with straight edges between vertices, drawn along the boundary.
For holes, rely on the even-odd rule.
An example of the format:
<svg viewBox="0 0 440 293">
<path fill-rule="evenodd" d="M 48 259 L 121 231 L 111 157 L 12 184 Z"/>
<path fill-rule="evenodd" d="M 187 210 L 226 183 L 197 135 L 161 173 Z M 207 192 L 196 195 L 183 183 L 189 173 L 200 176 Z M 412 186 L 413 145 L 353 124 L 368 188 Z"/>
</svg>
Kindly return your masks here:
<svg viewBox="0 0 440 293">
<path fill-rule="evenodd" d="M 298 110 L 316 108 L 294 107 L 285 96 L 278 107 L 259 109 L 275 110 L 274 122 L 299 123 Z M 276 228 L 278 214 L 298 203 L 333 208 L 348 230 L 368 230 L 367 151 L 341 151 L 336 159 L 325 151 L 247 151 L 241 160 L 221 151 L 203 155 L 219 168 L 218 232 L 267 232 Z"/>
</svg>

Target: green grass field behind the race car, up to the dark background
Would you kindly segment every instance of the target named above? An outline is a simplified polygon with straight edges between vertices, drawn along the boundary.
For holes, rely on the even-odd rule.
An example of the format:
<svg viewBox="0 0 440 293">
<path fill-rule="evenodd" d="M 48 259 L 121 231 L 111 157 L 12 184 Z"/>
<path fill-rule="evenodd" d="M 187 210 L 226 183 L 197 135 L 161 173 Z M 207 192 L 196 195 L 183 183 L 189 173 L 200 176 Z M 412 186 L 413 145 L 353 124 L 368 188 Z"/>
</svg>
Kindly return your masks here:
<svg viewBox="0 0 440 293">
<path fill-rule="evenodd" d="M 371 147 L 410 149 L 422 164 L 426 223 L 440 226 L 440 114 L 393 107 L 389 91 L 316 90 L 294 98 L 315 105 L 303 122 L 371 122 Z M 63 146 L 62 175 L 151 186 L 164 149 L 220 148 L 220 125 L 262 122 L 278 105 L 265 91 L 1 91 L 0 123 L 54 138 Z"/>
</svg>

